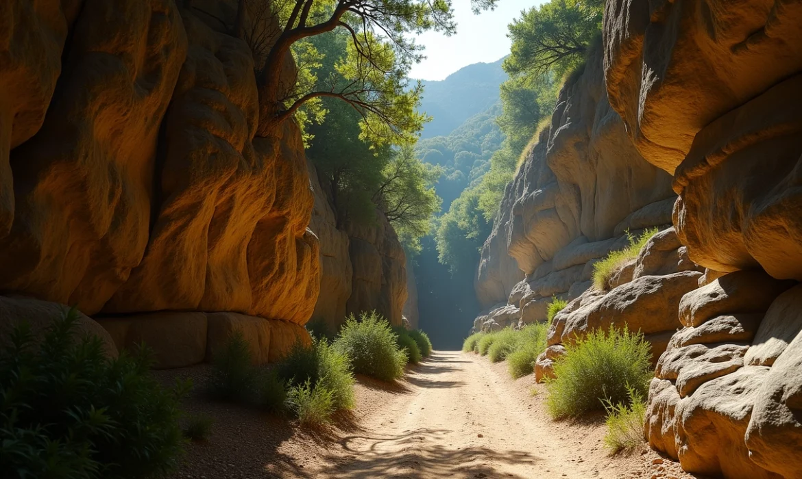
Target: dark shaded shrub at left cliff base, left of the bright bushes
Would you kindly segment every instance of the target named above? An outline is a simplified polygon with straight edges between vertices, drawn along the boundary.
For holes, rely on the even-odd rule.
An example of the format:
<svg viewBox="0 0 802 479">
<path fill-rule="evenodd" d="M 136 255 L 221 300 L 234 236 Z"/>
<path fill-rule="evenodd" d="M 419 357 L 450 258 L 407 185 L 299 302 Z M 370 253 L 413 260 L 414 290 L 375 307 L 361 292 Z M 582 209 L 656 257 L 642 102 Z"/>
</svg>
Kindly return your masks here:
<svg viewBox="0 0 802 479">
<path fill-rule="evenodd" d="M 214 356 L 211 382 L 213 395 L 225 401 L 243 401 L 249 398 L 256 384 L 257 371 L 253 367 L 253 354 L 241 331 L 234 331 L 222 351 Z"/>
</svg>

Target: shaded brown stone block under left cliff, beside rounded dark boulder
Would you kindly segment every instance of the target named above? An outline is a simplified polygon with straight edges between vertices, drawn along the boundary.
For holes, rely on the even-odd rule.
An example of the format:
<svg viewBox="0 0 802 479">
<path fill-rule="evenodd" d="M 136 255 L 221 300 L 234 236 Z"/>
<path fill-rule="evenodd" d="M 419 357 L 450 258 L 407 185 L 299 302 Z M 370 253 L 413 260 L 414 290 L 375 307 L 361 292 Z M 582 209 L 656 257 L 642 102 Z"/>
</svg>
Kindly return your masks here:
<svg viewBox="0 0 802 479">
<path fill-rule="evenodd" d="M 117 349 L 144 344 L 153 351 L 154 368 L 184 368 L 206 356 L 206 315 L 203 312 L 153 312 L 120 318 L 98 318 Z"/>
</svg>

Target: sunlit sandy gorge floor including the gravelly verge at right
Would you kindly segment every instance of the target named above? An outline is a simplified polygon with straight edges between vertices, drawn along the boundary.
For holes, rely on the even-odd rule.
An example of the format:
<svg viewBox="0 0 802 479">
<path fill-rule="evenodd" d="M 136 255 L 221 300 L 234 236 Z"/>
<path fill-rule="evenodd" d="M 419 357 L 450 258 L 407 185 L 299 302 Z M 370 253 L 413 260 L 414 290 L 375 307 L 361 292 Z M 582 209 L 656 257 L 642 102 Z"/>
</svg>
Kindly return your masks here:
<svg viewBox="0 0 802 479">
<path fill-rule="evenodd" d="M 542 407 L 544 394 L 530 395 L 534 383 L 529 379 L 512 380 L 504 363 L 491 364 L 473 354 L 434 352 L 391 391 L 368 390 L 370 397 L 365 397 L 361 384 L 360 402 L 370 410 L 358 406 L 355 411 L 358 431 L 343 433 L 295 473 L 332 478 L 666 477 L 662 466 L 652 463 L 662 462 L 652 451 L 607 457 L 601 420 L 581 425 L 551 421 Z M 298 457 L 298 451 L 290 455 Z M 675 477 L 689 476 L 678 470 Z"/>
</svg>

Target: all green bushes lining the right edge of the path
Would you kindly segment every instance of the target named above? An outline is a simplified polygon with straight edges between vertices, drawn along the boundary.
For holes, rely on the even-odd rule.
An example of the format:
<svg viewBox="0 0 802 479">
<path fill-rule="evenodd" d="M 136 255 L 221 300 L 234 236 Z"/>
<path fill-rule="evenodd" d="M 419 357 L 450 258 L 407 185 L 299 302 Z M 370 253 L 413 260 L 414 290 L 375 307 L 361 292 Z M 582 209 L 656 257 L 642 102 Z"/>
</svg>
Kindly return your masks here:
<svg viewBox="0 0 802 479">
<path fill-rule="evenodd" d="M 516 331 L 477 332 L 468 336 L 464 352 L 477 352 L 493 362 L 506 360 L 513 377 L 533 372 L 545 350 L 546 332 L 565 301 L 549 304 L 549 321 Z M 653 376 L 651 346 L 639 332 L 627 328 L 591 332 L 576 344 L 565 344 L 566 354 L 554 363 L 554 379 L 546 381 L 545 400 L 555 419 L 581 417 L 603 410 L 607 414 L 605 444 L 610 452 L 638 447 L 643 441 L 644 398 Z"/>
</svg>

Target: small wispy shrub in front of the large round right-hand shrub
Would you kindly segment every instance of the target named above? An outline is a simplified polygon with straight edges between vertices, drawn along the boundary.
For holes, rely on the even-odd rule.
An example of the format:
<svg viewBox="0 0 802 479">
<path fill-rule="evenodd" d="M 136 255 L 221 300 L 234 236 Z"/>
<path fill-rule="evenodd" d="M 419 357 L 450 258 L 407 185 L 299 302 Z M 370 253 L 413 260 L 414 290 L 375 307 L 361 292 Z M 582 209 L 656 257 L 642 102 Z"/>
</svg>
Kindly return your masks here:
<svg viewBox="0 0 802 479">
<path fill-rule="evenodd" d="M 643 444 L 646 402 L 634 388 L 629 388 L 629 400 L 630 405 L 605 401 L 607 433 L 604 443 L 613 454 L 625 449 L 635 449 Z"/>
</svg>

